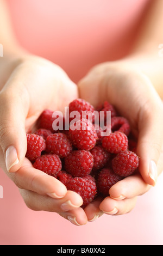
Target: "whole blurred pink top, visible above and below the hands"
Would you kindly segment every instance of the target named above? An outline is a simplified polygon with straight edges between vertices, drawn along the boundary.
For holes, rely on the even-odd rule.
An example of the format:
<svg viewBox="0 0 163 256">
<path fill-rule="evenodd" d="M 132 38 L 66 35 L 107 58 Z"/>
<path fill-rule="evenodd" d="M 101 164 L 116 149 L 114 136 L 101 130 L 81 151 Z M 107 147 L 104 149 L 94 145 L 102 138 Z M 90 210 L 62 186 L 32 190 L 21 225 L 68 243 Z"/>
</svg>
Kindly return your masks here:
<svg viewBox="0 0 163 256">
<path fill-rule="evenodd" d="M 8 0 L 21 45 L 60 65 L 77 82 L 93 65 L 128 53 L 148 0 Z M 123 216 L 77 227 L 53 212 L 35 212 L 0 171 L 0 245 L 162 245 L 163 174 Z"/>
</svg>

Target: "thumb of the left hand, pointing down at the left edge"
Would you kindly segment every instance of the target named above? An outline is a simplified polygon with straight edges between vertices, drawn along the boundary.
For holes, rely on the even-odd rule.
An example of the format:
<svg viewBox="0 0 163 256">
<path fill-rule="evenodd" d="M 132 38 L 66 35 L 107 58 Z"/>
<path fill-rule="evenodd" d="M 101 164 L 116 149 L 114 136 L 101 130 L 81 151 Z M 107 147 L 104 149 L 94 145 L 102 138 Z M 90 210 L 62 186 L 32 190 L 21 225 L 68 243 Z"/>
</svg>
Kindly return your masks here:
<svg viewBox="0 0 163 256">
<path fill-rule="evenodd" d="M 25 116 L 21 95 L 4 89 L 0 93 L 0 145 L 8 172 L 16 172 L 26 155 Z"/>
</svg>

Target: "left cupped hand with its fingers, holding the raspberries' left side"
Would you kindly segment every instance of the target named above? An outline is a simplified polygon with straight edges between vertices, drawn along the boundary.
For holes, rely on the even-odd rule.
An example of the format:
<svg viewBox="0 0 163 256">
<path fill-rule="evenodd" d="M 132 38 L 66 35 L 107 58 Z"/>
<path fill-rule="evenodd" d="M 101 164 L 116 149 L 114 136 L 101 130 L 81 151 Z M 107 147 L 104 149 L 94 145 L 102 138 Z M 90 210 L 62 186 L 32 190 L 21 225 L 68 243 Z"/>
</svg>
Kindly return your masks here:
<svg viewBox="0 0 163 256">
<path fill-rule="evenodd" d="M 0 166 L 18 186 L 30 209 L 70 210 L 71 220 L 71 210 L 81 211 L 82 198 L 67 191 L 59 180 L 33 168 L 25 157 L 26 132 L 34 129 L 43 110 L 64 111 L 78 97 L 77 86 L 58 65 L 43 58 L 4 58 L 0 65 Z M 84 211 L 81 214 L 85 223 Z"/>
</svg>

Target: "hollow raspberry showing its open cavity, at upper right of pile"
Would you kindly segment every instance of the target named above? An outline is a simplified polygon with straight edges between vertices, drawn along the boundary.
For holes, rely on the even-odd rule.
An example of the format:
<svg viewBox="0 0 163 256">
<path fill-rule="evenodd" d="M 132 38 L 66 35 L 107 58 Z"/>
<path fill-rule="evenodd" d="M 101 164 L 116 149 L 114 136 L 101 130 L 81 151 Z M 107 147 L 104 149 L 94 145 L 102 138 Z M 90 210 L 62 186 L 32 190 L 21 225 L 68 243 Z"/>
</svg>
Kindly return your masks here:
<svg viewBox="0 0 163 256">
<path fill-rule="evenodd" d="M 125 133 L 127 136 L 130 133 L 130 124 L 129 121 L 124 117 L 112 117 L 111 118 L 111 130 L 120 131 Z"/>
</svg>

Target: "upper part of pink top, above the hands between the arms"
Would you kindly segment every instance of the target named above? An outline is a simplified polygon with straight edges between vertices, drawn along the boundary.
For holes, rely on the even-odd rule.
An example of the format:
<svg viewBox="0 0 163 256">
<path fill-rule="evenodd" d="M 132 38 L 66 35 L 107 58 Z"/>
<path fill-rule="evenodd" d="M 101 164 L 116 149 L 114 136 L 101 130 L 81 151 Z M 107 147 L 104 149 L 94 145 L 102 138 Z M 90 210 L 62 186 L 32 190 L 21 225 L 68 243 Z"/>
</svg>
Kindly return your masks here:
<svg viewBox="0 0 163 256">
<path fill-rule="evenodd" d="M 20 44 L 78 82 L 92 66 L 126 56 L 149 0 L 7 2 Z"/>
</svg>

